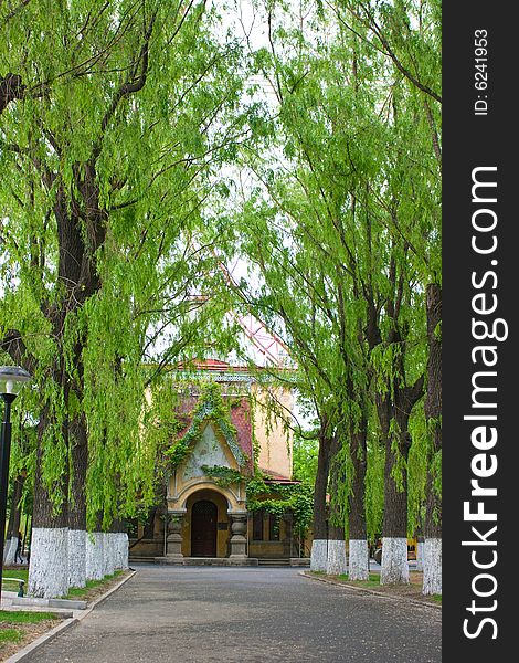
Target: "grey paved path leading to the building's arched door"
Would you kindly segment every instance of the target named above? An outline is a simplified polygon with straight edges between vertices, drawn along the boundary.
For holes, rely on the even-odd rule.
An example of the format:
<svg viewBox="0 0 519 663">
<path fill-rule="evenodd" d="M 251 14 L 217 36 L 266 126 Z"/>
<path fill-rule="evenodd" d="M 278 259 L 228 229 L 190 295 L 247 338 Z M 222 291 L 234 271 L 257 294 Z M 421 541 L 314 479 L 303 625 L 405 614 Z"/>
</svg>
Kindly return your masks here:
<svg viewBox="0 0 519 663">
<path fill-rule="evenodd" d="M 24 663 L 439 663 L 441 611 L 297 569 L 136 565 Z"/>
</svg>

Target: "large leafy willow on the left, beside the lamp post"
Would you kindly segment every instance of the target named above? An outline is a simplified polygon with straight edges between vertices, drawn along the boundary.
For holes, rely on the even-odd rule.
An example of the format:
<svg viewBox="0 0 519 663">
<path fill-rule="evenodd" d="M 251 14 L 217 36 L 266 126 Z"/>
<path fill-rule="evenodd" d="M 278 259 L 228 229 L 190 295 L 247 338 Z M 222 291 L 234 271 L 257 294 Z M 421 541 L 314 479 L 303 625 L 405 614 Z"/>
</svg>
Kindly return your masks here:
<svg viewBox="0 0 519 663">
<path fill-rule="evenodd" d="M 195 278 L 200 204 L 242 130 L 224 117 L 237 50 L 211 21 L 203 2 L 77 0 L 0 24 L 1 348 L 38 385 L 35 596 L 84 583 L 87 511 L 106 525 L 131 502 L 158 312 L 180 328 L 169 356 L 183 345 L 171 311 Z"/>
</svg>

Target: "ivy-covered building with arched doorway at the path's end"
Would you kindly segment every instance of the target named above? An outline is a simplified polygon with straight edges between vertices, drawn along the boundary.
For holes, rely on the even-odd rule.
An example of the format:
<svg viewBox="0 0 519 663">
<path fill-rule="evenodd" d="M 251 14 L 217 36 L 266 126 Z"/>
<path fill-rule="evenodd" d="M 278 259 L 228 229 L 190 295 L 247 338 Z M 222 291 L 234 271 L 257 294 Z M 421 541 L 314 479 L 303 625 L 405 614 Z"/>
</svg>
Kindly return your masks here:
<svg viewBox="0 0 519 663">
<path fill-rule="evenodd" d="M 262 499 L 276 499 L 284 487 L 298 484 L 292 480 L 292 435 L 265 407 L 268 388 L 224 361 L 199 362 L 197 373 L 179 401 L 165 499 L 146 523 L 134 523 L 130 558 L 170 564 L 298 558 L 292 514 L 279 518 L 258 508 Z M 276 387 L 275 396 L 290 412 L 292 390 Z M 251 481 L 258 475 L 261 492 L 251 509 Z"/>
</svg>

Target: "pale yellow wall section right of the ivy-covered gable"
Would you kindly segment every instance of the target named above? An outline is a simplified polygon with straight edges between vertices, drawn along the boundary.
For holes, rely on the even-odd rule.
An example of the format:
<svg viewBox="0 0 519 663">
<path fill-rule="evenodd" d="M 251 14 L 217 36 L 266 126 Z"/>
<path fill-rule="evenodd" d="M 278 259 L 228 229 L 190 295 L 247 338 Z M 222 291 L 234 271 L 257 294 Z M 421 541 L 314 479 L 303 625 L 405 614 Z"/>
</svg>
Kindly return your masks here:
<svg viewBox="0 0 519 663">
<path fill-rule="evenodd" d="M 264 388 L 253 386 L 253 393 L 256 397 L 254 432 L 260 446 L 258 465 L 263 470 L 272 470 L 283 476 L 292 477 L 292 449 L 293 439 L 289 431 L 285 431 L 283 420 L 268 417 L 264 403 L 268 397 Z M 292 412 L 294 407 L 294 397 L 288 389 L 275 389 L 276 399 Z"/>
</svg>

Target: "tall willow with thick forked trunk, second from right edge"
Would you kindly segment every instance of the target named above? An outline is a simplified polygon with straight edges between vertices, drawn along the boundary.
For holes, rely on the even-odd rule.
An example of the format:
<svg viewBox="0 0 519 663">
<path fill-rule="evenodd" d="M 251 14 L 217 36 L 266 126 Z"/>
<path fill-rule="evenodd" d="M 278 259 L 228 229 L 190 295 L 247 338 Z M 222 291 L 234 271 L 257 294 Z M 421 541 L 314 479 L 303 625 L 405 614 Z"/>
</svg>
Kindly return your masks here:
<svg viewBox="0 0 519 663">
<path fill-rule="evenodd" d="M 299 292 L 296 281 L 303 291 L 318 292 L 319 316 L 327 320 L 324 329 L 335 347 L 325 372 L 342 373 L 329 399 L 354 403 L 352 432 L 363 439 L 352 459 L 366 453 L 369 404 L 377 408 L 385 451 L 381 580 L 406 582 L 409 422 L 424 392 L 426 357 L 424 272 L 419 263 L 437 235 L 437 217 L 427 217 L 434 194 L 425 194 L 431 182 L 437 191 L 437 172 L 430 175 L 431 150 L 425 158 L 421 152 L 425 141 L 437 148 L 437 135 L 430 106 L 417 112 L 413 69 L 391 43 L 400 29 L 410 35 L 399 45 L 411 64 L 428 59 L 434 65 L 436 54 L 424 57 L 423 52 L 435 15 L 423 3 L 413 6 L 420 21 L 424 19 L 415 30 L 415 15 L 410 18 L 402 3 L 354 4 L 310 12 L 310 19 L 289 27 L 286 14 L 276 27 L 275 9 L 266 8 L 271 48 L 256 53 L 256 62 L 276 93 L 278 140 L 275 148 L 271 143 L 273 151 L 266 157 L 260 149 L 250 151 L 247 166 L 258 182 L 257 199 L 268 200 L 265 207 L 271 209 L 269 214 L 258 211 L 261 206 L 256 209 L 256 219 L 263 217 L 258 242 L 273 253 L 258 263 L 269 304 L 300 337 L 301 325 L 316 317 L 315 302 L 306 303 L 306 320 L 297 312 L 293 319 L 298 324 L 288 325 L 280 301 Z M 345 21 L 343 9 L 353 24 Z M 430 95 L 433 88 L 427 81 L 420 90 Z M 420 175 L 423 168 L 426 177 Z M 247 228 L 254 228 L 250 220 Z M 276 263 L 276 280 L 268 282 L 267 272 Z M 296 352 L 297 346 L 294 336 Z M 369 389 L 358 378 L 367 373 Z M 356 472 L 362 471 L 359 464 Z M 356 496 L 362 497 L 359 488 Z"/>
</svg>

